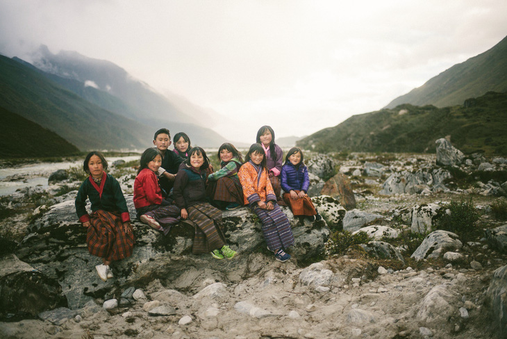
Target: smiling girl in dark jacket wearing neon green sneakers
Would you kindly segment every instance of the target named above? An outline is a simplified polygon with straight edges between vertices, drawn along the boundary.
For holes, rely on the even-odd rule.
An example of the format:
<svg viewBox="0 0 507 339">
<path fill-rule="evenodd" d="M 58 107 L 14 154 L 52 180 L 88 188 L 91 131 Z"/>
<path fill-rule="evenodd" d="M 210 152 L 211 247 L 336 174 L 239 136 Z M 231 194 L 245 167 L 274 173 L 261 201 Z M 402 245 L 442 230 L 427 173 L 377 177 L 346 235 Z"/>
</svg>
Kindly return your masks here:
<svg viewBox="0 0 507 339">
<path fill-rule="evenodd" d="M 210 252 L 216 259 L 232 259 L 236 252 L 226 245 L 221 229 L 222 211 L 211 206 L 206 197 L 208 167 L 206 152 L 201 147 L 190 149 L 174 181 L 174 201 L 181 208 L 181 219 L 188 218 L 194 224 L 192 253 Z"/>
</svg>

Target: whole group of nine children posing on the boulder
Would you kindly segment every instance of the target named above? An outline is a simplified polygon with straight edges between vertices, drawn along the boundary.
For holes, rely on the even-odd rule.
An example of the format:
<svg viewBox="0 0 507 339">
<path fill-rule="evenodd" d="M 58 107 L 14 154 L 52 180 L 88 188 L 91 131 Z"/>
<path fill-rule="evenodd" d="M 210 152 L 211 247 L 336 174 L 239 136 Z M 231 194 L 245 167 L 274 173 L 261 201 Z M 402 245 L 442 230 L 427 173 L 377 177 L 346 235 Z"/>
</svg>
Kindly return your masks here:
<svg viewBox="0 0 507 339">
<path fill-rule="evenodd" d="M 307 195 L 310 181 L 301 149 L 290 149 L 282 165 L 283 151 L 275 144 L 270 126 L 259 129 L 256 141 L 244 161 L 233 144 L 222 144 L 217 152 L 221 168 L 214 172 L 206 151 L 191 147 L 188 135 L 176 133 L 174 151 L 169 151 L 169 130 L 156 131 L 155 147 L 143 152 L 134 182 L 138 219 L 164 235 L 180 221 L 191 224 L 193 254 L 232 259 L 237 252 L 226 244 L 222 210 L 249 206 L 262 222 L 267 249 L 276 260 L 288 261 L 285 250 L 294 244 L 294 235 L 279 204 L 312 221 L 321 217 Z M 103 281 L 113 277 L 110 263 L 131 256 L 135 243 L 125 198 L 119 183 L 104 172 L 107 167 L 99 152 L 90 152 L 83 163 L 90 176 L 76 197 L 76 213 L 88 227 L 88 251 L 102 258 L 96 269 Z M 87 197 L 90 215 L 85 209 Z"/>
</svg>

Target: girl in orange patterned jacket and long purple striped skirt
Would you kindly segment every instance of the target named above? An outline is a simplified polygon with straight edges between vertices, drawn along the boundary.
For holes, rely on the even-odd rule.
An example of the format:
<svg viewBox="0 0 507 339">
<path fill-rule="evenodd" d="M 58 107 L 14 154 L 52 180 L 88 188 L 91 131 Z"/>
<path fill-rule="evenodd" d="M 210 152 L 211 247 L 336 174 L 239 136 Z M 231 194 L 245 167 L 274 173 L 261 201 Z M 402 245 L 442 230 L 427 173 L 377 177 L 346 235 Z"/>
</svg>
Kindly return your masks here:
<svg viewBox="0 0 507 339">
<path fill-rule="evenodd" d="M 294 245 L 294 235 L 287 216 L 276 204 L 263 145 L 251 145 L 238 176 L 243 186 L 244 204 L 249 204 L 263 223 L 267 249 L 274 253 L 277 261 L 288 261 L 290 254 L 284 250 Z"/>
</svg>

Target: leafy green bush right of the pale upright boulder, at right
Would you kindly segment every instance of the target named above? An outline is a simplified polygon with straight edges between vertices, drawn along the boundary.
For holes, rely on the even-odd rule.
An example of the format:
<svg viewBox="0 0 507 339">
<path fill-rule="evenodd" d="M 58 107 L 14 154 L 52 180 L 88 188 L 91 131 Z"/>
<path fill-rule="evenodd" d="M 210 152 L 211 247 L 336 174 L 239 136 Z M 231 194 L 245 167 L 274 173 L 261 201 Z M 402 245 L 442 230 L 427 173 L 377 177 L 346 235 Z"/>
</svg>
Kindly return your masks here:
<svg viewBox="0 0 507 339">
<path fill-rule="evenodd" d="M 436 221 L 435 229 L 442 229 L 459 235 L 463 242 L 472 240 L 478 233 L 475 223 L 479 220 L 472 199 L 469 201 L 451 201 L 450 204 L 442 206 L 442 216 Z M 447 211 L 449 210 L 449 211 Z"/>
</svg>

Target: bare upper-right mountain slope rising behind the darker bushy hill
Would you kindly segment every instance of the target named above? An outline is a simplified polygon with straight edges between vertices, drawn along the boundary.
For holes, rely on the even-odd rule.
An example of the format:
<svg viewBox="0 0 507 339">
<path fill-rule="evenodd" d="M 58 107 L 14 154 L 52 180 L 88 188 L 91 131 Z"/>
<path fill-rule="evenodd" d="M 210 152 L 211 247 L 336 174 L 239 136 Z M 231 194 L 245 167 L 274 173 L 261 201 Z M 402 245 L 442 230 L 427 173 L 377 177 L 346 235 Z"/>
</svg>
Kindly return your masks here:
<svg viewBox="0 0 507 339">
<path fill-rule="evenodd" d="M 488 91 L 507 91 L 507 37 L 492 49 L 454 65 L 421 87 L 394 99 L 385 108 L 401 104 L 452 106 Z"/>
</svg>

